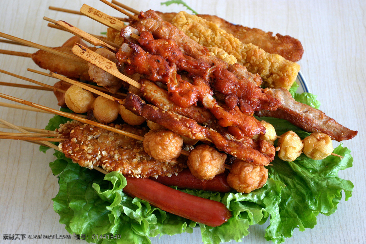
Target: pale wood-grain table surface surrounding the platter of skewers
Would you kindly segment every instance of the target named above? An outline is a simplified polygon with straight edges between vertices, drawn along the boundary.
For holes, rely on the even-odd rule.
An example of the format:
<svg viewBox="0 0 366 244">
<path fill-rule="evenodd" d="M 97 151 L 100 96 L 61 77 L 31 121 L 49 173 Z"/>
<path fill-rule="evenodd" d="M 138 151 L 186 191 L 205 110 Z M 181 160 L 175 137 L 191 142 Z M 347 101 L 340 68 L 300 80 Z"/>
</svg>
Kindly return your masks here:
<svg viewBox="0 0 366 244">
<path fill-rule="evenodd" d="M 365 181 L 365 80 L 366 80 L 366 1 L 193 1 L 186 0 L 194 10 L 218 15 L 232 23 L 256 27 L 273 33 L 298 38 L 305 49 L 298 63 L 312 93 L 321 101 L 320 109 L 341 124 L 359 131 L 344 146 L 352 150 L 354 166 L 341 171 L 339 176 L 351 180 L 353 196 L 338 205 L 335 214 L 318 216 L 314 229 L 299 232 L 285 243 L 365 243 L 366 181 Z M 67 22 L 98 34 L 106 27 L 75 14 L 48 10 L 56 6 L 79 10 L 83 3 L 109 15 L 122 16 L 116 10 L 97 0 L 14 0 L 0 1 L 0 32 L 43 44 L 60 46 L 71 34 L 50 29 L 42 20 L 47 16 Z M 137 10 L 154 9 L 163 12 L 185 10 L 182 5 L 161 6 L 160 1 L 123 1 Z M 0 49 L 35 52 L 36 49 L 0 43 Z M 27 72 L 26 68 L 40 70 L 30 58 L 0 55 L 0 69 L 27 76 L 44 83 L 51 78 Z M 0 74 L 0 81 L 27 82 Z M 52 92 L 0 86 L 0 93 L 13 95 L 57 109 Z M 8 102 L 0 99 L 0 102 Z M 13 103 L 13 102 L 9 102 Z M 16 125 L 44 128 L 51 115 L 0 107 L 0 118 Z M 338 143 L 336 143 L 337 145 Z M 51 150 L 40 153 L 35 144 L 0 140 L 0 243 L 84 243 L 74 240 L 3 240 L 3 234 L 68 235 L 59 215 L 53 211 L 52 198 L 57 194 L 57 178 L 48 163 L 53 161 Z M 244 243 L 266 243 L 266 226 L 251 226 Z M 199 229 L 193 234 L 153 238 L 152 243 L 201 243 Z M 234 243 L 234 242 L 233 242 Z"/>
</svg>

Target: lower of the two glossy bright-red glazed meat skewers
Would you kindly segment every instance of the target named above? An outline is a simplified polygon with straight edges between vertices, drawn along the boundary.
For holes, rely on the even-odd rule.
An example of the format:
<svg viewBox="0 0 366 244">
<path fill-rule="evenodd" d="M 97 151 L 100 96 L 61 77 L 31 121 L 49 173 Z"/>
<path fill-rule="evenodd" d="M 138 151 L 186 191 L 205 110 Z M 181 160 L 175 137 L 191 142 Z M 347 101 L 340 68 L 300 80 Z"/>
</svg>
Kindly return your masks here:
<svg viewBox="0 0 366 244">
<path fill-rule="evenodd" d="M 237 106 L 234 109 L 220 107 L 212 96 L 210 86 L 201 76 L 194 76 L 193 83 L 183 80 L 180 75 L 176 74 L 175 63 L 172 63 L 170 67 L 162 56 L 146 53 L 136 44 L 129 43 L 129 45 L 131 52 L 123 47 L 124 49 L 120 49 L 116 54 L 119 64 L 126 64 L 125 72 L 127 74 L 143 74 L 153 81 L 166 83 L 171 94 L 170 100 L 182 108 L 188 108 L 196 105 L 198 100 L 201 101 L 203 106 L 213 113 L 218 123 L 223 127 L 236 126 L 240 128 L 245 136 L 265 134 L 264 126 L 253 116 L 243 114 Z M 124 50 L 127 50 L 127 52 Z M 176 52 L 179 52 L 179 50 L 176 50 Z M 191 71 L 197 68 L 195 63 L 192 62 L 190 63 Z M 198 64 L 198 72 L 202 72 L 199 69 L 201 66 Z M 207 72 L 206 69 L 204 72 Z"/>
</svg>

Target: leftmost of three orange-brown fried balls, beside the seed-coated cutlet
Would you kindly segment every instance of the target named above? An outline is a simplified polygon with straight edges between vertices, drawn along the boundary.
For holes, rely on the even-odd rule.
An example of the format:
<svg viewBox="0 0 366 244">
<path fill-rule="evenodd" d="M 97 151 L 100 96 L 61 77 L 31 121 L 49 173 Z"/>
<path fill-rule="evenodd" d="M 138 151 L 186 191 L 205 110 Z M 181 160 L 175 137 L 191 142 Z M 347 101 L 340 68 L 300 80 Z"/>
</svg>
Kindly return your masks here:
<svg viewBox="0 0 366 244">
<path fill-rule="evenodd" d="M 142 143 L 143 149 L 151 157 L 161 161 L 172 161 L 180 156 L 183 139 L 173 131 L 149 131 Z"/>
</svg>

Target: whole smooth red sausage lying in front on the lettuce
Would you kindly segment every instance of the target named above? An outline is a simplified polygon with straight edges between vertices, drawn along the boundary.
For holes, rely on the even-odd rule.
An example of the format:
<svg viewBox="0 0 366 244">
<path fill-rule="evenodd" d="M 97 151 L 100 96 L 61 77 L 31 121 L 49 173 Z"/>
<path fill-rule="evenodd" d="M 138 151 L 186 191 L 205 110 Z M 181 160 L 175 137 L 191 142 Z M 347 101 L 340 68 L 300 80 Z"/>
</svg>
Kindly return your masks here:
<svg viewBox="0 0 366 244">
<path fill-rule="evenodd" d="M 215 227 L 232 216 L 223 203 L 193 196 L 150 179 L 126 177 L 126 180 L 124 192 L 180 217 Z"/>
</svg>

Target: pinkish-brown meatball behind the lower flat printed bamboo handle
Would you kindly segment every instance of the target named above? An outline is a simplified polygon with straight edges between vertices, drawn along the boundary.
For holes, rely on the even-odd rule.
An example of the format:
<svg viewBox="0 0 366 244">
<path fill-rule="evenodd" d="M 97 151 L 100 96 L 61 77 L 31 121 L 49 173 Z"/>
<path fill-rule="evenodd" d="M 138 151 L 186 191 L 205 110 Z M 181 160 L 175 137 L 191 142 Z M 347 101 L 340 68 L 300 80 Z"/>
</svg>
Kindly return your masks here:
<svg viewBox="0 0 366 244">
<path fill-rule="evenodd" d="M 115 57 L 115 53 L 105 49 L 105 48 L 98 48 L 96 51 L 99 55 L 111 60 L 112 62 L 116 63 L 117 59 Z M 109 74 L 108 72 L 98 68 L 97 66 L 89 63 L 89 70 L 88 74 L 90 79 L 93 80 L 98 86 L 102 86 L 107 89 L 111 93 L 116 93 L 118 89 L 121 88 L 123 81 L 117 78 L 114 75 Z"/>
</svg>

